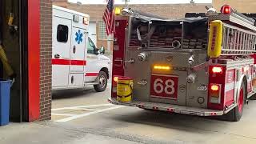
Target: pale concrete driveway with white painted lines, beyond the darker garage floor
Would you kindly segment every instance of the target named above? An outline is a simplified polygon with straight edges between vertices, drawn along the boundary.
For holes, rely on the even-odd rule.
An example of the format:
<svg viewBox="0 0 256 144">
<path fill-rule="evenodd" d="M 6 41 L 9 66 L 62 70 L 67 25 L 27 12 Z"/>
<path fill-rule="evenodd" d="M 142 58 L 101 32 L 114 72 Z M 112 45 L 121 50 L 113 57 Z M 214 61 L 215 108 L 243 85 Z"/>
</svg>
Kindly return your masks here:
<svg viewBox="0 0 256 144">
<path fill-rule="evenodd" d="M 95 137 L 118 138 L 127 143 L 256 143 L 256 101 L 250 101 L 245 107 L 240 122 L 226 122 L 113 106 L 106 102 L 109 96 L 110 87 L 102 93 L 96 93 L 90 87 L 60 93 L 53 100 L 54 123 L 51 124 L 86 131 Z"/>
</svg>

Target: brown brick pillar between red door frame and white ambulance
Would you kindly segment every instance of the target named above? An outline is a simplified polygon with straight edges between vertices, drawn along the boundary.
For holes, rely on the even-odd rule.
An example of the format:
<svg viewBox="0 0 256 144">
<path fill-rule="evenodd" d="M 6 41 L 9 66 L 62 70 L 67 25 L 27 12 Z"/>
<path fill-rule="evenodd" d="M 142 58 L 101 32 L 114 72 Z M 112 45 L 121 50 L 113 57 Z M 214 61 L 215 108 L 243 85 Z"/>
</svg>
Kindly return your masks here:
<svg viewBox="0 0 256 144">
<path fill-rule="evenodd" d="M 51 118 L 52 0 L 41 0 L 40 120 Z"/>
</svg>

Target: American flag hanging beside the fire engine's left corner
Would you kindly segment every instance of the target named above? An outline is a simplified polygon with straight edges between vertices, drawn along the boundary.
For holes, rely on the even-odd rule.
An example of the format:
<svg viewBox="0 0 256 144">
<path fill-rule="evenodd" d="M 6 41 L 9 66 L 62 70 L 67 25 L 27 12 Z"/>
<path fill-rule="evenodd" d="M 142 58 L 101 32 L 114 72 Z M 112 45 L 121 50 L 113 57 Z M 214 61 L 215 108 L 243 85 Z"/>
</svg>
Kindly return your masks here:
<svg viewBox="0 0 256 144">
<path fill-rule="evenodd" d="M 109 0 L 109 2 L 107 2 L 103 20 L 106 24 L 106 34 L 112 34 L 114 32 L 114 0 Z"/>
</svg>

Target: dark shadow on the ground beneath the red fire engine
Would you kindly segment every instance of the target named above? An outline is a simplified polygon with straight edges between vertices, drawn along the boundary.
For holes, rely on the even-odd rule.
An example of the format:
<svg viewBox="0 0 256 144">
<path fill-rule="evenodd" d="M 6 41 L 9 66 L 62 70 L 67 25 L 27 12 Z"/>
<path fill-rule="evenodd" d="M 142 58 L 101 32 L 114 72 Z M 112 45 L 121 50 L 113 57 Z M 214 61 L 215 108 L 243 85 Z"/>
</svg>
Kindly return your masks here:
<svg viewBox="0 0 256 144">
<path fill-rule="evenodd" d="M 113 119 L 120 122 L 139 123 L 149 126 L 159 126 L 167 129 L 189 130 L 191 132 L 215 131 L 216 127 L 225 129 L 230 126 L 228 123 L 221 120 L 220 117 L 198 117 L 186 114 L 170 114 L 168 112 L 150 111 L 150 110 L 136 110 L 134 113 L 115 116 Z M 228 125 L 227 125 L 228 124 Z M 217 130 L 216 130 L 217 131 Z"/>
</svg>

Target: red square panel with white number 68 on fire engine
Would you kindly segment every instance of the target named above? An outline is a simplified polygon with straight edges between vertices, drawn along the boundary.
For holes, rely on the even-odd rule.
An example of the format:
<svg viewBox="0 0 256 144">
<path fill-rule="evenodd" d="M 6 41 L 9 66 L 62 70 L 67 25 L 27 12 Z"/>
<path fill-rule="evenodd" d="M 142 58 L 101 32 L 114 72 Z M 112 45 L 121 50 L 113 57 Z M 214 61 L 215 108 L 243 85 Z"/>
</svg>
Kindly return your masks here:
<svg viewBox="0 0 256 144">
<path fill-rule="evenodd" d="M 151 76 L 151 97 L 177 98 L 178 77 L 169 75 Z"/>
</svg>

